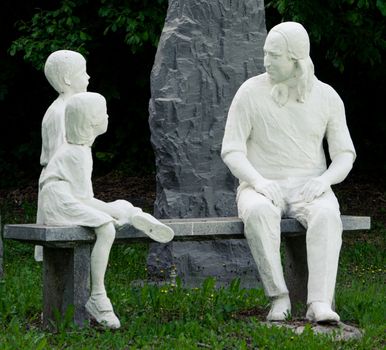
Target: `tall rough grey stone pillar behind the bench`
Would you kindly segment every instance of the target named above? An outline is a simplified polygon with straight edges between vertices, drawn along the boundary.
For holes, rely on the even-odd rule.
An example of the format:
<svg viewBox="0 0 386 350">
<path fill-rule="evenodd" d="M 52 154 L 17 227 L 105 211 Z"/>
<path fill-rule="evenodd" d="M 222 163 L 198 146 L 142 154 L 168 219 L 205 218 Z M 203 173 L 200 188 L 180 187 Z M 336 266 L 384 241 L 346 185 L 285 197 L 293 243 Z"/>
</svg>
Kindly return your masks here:
<svg viewBox="0 0 386 350">
<path fill-rule="evenodd" d="M 236 180 L 220 158 L 229 106 L 263 71 L 263 0 L 170 0 L 151 73 L 151 141 L 159 218 L 235 216 Z M 256 286 L 244 240 L 153 244 L 151 273 L 174 262 L 186 284 L 215 276 Z"/>
</svg>

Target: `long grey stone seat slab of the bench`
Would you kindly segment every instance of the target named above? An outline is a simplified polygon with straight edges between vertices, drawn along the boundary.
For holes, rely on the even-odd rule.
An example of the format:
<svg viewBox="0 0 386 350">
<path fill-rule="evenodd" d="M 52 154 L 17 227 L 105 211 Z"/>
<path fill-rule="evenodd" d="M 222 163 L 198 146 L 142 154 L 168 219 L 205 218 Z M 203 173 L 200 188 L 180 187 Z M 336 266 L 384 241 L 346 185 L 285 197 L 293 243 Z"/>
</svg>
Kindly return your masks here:
<svg viewBox="0 0 386 350">
<path fill-rule="evenodd" d="M 370 217 L 342 215 L 344 231 L 370 229 Z M 175 241 L 196 239 L 244 238 L 244 225 L 237 217 L 161 219 L 175 232 Z M 285 237 L 304 236 L 304 228 L 295 219 L 282 219 L 281 232 Z M 38 224 L 5 225 L 4 238 L 57 247 L 74 247 L 79 242 L 95 241 L 91 229 L 80 226 L 43 226 Z M 150 239 L 141 231 L 126 225 L 117 231 L 117 241 L 136 241 Z"/>
</svg>

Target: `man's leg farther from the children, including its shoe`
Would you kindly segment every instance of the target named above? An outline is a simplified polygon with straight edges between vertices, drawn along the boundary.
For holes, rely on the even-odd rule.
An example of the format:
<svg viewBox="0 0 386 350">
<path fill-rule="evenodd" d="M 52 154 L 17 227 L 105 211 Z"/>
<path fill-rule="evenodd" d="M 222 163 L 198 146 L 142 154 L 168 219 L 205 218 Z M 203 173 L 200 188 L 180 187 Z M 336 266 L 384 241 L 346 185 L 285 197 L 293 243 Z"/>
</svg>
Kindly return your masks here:
<svg viewBox="0 0 386 350">
<path fill-rule="evenodd" d="M 307 318 L 319 322 L 339 321 L 338 314 L 331 309 L 342 244 L 339 204 L 331 190 L 303 204 L 298 219 L 307 226 Z"/>
</svg>

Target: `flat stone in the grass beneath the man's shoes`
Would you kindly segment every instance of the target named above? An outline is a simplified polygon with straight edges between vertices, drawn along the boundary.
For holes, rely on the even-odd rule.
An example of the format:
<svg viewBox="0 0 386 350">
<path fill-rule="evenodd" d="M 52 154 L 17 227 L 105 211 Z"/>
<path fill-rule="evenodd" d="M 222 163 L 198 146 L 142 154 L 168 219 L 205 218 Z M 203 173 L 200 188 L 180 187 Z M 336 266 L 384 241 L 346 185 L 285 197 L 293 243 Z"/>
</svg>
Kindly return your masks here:
<svg viewBox="0 0 386 350">
<path fill-rule="evenodd" d="M 306 321 L 289 322 L 263 322 L 268 327 L 285 327 L 291 329 L 295 334 L 302 334 L 305 329 Z M 354 326 L 339 322 L 337 325 L 311 324 L 311 330 L 317 335 L 330 336 L 335 341 L 357 340 L 363 337 L 363 331 Z"/>
</svg>

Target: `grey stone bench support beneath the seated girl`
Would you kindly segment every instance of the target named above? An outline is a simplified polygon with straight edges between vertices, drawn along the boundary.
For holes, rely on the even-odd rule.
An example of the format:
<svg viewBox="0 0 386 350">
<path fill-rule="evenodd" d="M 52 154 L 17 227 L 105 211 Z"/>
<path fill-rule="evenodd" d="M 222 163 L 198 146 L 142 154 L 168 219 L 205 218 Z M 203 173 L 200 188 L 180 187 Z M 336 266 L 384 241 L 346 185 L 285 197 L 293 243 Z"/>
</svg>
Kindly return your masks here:
<svg viewBox="0 0 386 350">
<path fill-rule="evenodd" d="M 50 328 L 55 310 L 61 316 L 74 307 L 73 321 L 88 319 L 85 304 L 90 296 L 90 244 L 73 248 L 43 249 L 43 326 Z"/>
</svg>

